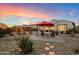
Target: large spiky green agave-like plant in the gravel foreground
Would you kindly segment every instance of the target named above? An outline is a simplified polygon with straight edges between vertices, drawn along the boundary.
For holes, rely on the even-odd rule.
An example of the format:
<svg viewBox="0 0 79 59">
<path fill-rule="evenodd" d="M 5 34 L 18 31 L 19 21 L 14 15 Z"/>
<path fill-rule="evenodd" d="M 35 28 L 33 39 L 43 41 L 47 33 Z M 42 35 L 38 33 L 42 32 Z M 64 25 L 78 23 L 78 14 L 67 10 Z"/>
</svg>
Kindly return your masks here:
<svg viewBox="0 0 79 59">
<path fill-rule="evenodd" d="M 19 40 L 20 41 L 19 41 L 18 45 L 24 54 L 32 52 L 33 43 L 31 42 L 29 37 L 21 37 L 21 38 L 19 38 Z"/>
</svg>

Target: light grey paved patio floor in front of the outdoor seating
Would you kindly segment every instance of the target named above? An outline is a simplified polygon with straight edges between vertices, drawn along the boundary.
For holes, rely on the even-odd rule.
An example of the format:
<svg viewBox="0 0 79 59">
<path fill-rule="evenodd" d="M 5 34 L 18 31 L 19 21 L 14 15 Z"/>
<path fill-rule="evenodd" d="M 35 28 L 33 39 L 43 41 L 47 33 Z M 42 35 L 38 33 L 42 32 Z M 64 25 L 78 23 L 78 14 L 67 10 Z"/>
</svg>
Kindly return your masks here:
<svg viewBox="0 0 79 59">
<path fill-rule="evenodd" d="M 45 36 L 31 36 L 32 40 L 48 41 L 48 42 L 64 42 L 59 36 L 45 37 Z"/>
</svg>

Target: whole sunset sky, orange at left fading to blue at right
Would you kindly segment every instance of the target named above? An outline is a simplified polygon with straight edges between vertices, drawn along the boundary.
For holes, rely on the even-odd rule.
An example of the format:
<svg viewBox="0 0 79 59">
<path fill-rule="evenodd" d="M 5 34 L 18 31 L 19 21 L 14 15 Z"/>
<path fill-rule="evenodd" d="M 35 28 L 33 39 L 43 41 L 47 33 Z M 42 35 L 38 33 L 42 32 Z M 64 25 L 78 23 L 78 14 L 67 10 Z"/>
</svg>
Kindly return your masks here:
<svg viewBox="0 0 79 59">
<path fill-rule="evenodd" d="M 79 4 L 0 4 L 0 23 L 9 26 L 33 24 L 52 19 L 73 21 L 79 25 Z"/>
</svg>

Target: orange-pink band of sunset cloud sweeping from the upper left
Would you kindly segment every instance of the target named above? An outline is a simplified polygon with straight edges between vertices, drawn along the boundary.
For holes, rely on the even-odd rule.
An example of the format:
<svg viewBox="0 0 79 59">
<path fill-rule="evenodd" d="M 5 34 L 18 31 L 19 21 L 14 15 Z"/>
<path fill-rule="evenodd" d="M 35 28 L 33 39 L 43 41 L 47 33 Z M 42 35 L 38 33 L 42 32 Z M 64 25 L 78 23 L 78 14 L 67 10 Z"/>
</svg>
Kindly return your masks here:
<svg viewBox="0 0 79 59">
<path fill-rule="evenodd" d="M 31 8 L 24 8 L 20 6 L 0 5 L 0 17 L 16 15 L 20 17 L 34 17 L 34 18 L 48 18 L 49 16 L 43 12 L 35 11 Z"/>
</svg>

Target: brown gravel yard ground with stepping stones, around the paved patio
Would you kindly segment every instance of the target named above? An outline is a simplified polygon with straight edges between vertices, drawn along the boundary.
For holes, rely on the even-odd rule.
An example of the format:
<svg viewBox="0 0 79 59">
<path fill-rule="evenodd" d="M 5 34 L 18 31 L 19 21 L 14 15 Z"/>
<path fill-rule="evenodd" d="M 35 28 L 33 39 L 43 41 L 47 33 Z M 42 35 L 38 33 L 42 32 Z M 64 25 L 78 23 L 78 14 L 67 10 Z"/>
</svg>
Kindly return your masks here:
<svg viewBox="0 0 79 59">
<path fill-rule="evenodd" d="M 18 36 L 7 36 L 0 38 L 0 54 L 14 54 L 13 51 L 17 48 L 17 41 L 14 38 Z M 70 37 L 70 35 L 61 34 L 59 35 L 63 42 L 51 41 L 43 38 L 44 40 L 32 40 L 34 51 L 28 55 L 78 55 L 74 52 L 76 48 L 79 49 L 79 34 L 75 37 Z M 52 40 L 54 38 L 52 37 Z M 56 39 L 57 40 L 57 39 Z"/>
</svg>

